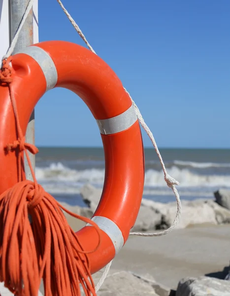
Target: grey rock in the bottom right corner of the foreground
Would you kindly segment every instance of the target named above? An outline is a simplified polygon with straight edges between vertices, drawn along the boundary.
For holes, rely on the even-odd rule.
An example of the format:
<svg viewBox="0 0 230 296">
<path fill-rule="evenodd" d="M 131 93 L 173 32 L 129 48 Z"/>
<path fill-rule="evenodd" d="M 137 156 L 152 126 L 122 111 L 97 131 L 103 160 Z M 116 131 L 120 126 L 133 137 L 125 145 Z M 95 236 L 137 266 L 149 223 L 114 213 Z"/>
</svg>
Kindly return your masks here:
<svg viewBox="0 0 230 296">
<path fill-rule="evenodd" d="M 230 281 L 205 276 L 184 278 L 178 284 L 176 296 L 230 296 Z"/>
</svg>

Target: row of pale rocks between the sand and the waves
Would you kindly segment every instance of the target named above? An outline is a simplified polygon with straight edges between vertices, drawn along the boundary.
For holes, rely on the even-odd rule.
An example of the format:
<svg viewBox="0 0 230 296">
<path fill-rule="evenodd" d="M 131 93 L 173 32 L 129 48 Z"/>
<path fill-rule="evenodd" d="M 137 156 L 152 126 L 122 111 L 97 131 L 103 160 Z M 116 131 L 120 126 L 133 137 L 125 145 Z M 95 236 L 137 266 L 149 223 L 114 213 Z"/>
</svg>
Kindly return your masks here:
<svg viewBox="0 0 230 296">
<path fill-rule="evenodd" d="M 222 194 L 219 190 L 218 194 Z M 101 196 L 101 189 L 92 185 L 85 185 L 81 189 L 81 195 L 87 208 L 79 208 L 78 214 L 91 218 L 95 212 Z M 215 193 L 217 195 L 217 193 Z M 221 205 L 220 200 L 226 201 L 225 198 L 215 200 L 182 200 L 181 219 L 176 228 L 186 228 L 195 224 L 225 224 L 230 223 L 230 210 Z M 230 193 L 229 193 L 230 197 Z M 229 199 L 230 201 L 230 199 Z M 230 202 L 229 202 L 230 204 Z M 152 231 L 156 229 L 165 229 L 169 227 L 176 214 L 176 203 L 160 203 L 148 199 L 142 199 L 139 214 L 132 231 Z"/>
</svg>

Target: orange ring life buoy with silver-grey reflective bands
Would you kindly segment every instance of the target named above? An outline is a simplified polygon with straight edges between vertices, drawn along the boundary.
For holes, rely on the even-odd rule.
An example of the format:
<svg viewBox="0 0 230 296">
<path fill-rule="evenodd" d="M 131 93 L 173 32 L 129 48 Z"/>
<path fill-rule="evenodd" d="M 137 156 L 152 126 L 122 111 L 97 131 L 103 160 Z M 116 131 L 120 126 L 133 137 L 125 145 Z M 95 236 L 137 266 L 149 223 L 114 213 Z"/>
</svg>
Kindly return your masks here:
<svg viewBox="0 0 230 296">
<path fill-rule="evenodd" d="M 42 95 L 64 87 L 86 103 L 97 120 L 105 154 L 105 178 L 92 220 L 99 225 L 99 249 L 89 254 L 91 273 L 111 261 L 129 237 L 141 204 L 144 153 L 131 99 L 111 68 L 88 49 L 66 41 L 29 46 L 12 57 L 12 88 L 23 133 Z M 4 153 L 17 139 L 7 86 L 0 86 L 0 194 L 17 183 L 17 155 Z M 77 232 L 85 251 L 98 244 L 94 227 Z"/>
</svg>

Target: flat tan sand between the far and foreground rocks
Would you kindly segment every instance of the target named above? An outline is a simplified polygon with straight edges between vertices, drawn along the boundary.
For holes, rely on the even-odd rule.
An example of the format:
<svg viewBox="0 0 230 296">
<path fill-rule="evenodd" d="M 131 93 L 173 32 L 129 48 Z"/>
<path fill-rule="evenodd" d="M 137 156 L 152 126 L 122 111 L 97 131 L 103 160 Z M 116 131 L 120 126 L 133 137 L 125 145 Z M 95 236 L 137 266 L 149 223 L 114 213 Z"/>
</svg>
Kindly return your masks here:
<svg viewBox="0 0 230 296">
<path fill-rule="evenodd" d="M 84 225 L 68 215 L 66 217 L 75 231 Z M 175 229 L 161 237 L 131 236 L 113 260 L 109 275 L 114 270 L 131 271 L 144 277 L 151 276 L 174 290 L 184 277 L 223 277 L 222 271 L 227 271 L 230 261 L 229 245 L 228 224 L 197 224 Z M 101 271 L 94 276 L 95 283 L 100 275 Z"/>
</svg>

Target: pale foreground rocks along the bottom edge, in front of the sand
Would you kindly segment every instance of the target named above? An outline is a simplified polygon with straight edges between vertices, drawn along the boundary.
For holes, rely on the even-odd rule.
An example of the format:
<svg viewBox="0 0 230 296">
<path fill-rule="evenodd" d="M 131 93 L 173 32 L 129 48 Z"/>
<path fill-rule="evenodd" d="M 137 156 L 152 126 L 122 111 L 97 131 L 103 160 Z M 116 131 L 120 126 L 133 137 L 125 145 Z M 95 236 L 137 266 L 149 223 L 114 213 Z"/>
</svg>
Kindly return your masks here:
<svg viewBox="0 0 230 296">
<path fill-rule="evenodd" d="M 98 275 L 97 275 L 98 276 Z M 99 278 L 95 279 L 97 282 Z M 179 281 L 177 291 L 157 283 L 147 275 L 138 275 L 127 271 L 110 270 L 98 296 L 229 296 L 230 281 L 200 276 L 184 278 Z"/>
</svg>

